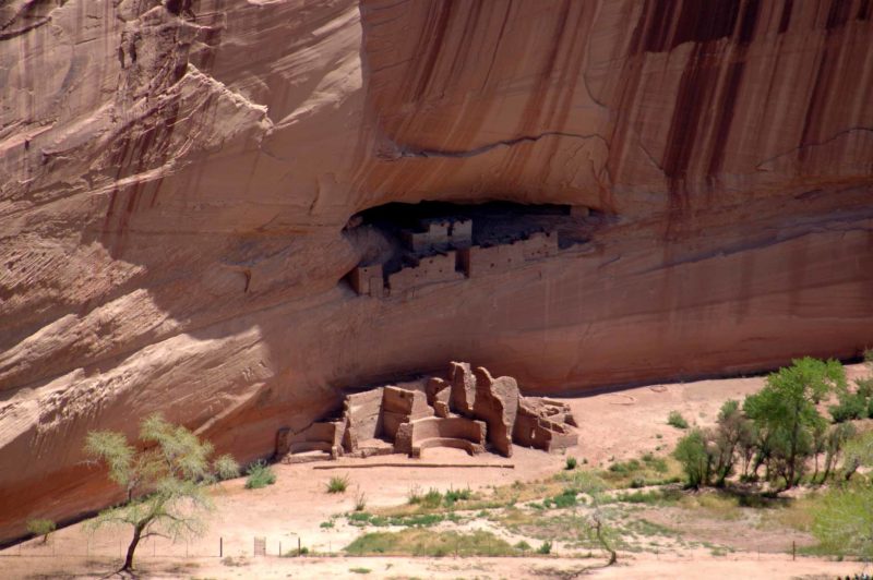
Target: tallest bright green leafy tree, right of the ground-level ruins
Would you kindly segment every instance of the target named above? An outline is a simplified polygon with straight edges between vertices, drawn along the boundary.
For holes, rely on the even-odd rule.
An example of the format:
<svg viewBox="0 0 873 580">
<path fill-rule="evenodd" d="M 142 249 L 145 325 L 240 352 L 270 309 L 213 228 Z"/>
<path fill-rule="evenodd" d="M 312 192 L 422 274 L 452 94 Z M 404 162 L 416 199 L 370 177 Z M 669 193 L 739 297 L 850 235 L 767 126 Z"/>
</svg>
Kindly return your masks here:
<svg viewBox="0 0 873 580">
<path fill-rule="evenodd" d="M 806 357 L 772 373 L 761 391 L 745 398 L 745 414 L 770 445 L 772 464 L 776 469 L 769 478 L 785 479 L 779 491 L 797 484 L 806 458 L 812 455 L 816 425 L 825 422 L 815 404 L 835 387 L 845 386 L 846 372 L 839 361 Z"/>
</svg>

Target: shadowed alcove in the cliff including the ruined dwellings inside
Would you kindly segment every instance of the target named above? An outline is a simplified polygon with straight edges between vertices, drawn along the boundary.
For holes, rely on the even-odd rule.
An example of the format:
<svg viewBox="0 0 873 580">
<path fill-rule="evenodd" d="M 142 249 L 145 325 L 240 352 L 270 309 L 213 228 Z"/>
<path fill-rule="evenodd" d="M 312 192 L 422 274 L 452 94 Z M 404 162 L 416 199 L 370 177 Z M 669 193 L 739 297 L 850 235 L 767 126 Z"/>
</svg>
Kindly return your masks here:
<svg viewBox="0 0 873 580">
<path fill-rule="evenodd" d="M 347 279 L 359 295 L 387 298 L 506 271 L 584 244 L 601 219 L 584 206 L 386 204 L 349 221 L 362 259 Z"/>
</svg>

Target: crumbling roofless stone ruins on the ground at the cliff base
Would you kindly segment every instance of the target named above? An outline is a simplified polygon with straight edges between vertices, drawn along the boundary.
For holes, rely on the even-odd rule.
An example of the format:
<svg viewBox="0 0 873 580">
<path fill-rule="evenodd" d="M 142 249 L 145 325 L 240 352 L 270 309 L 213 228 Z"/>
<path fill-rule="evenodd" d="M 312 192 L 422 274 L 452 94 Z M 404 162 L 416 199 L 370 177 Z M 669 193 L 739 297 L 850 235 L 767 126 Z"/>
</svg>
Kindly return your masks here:
<svg viewBox="0 0 873 580">
<path fill-rule="evenodd" d="M 549 452 L 571 447 L 578 440 L 575 426 L 566 404 L 524 397 L 512 377 L 453 362 L 447 378 L 347 395 L 340 418 L 297 433 L 280 430 L 276 454 L 289 463 L 388 454 L 420 458 L 430 447 L 512 457 L 514 444 Z"/>
</svg>

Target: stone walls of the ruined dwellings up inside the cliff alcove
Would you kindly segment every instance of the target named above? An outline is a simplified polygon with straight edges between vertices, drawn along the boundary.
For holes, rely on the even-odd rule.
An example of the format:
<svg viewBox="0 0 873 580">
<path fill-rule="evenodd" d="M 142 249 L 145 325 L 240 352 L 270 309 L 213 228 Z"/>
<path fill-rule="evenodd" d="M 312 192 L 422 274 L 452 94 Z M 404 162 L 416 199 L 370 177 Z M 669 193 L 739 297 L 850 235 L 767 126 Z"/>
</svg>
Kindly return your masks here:
<svg viewBox="0 0 873 580">
<path fill-rule="evenodd" d="M 348 279 L 358 294 L 403 294 L 428 283 L 505 271 L 560 252 L 558 233 L 551 231 L 534 232 L 509 243 L 475 245 L 469 218 L 422 219 L 418 229 L 403 231 L 400 239 L 410 263 L 391 274 L 382 264 L 356 267 Z"/>
</svg>

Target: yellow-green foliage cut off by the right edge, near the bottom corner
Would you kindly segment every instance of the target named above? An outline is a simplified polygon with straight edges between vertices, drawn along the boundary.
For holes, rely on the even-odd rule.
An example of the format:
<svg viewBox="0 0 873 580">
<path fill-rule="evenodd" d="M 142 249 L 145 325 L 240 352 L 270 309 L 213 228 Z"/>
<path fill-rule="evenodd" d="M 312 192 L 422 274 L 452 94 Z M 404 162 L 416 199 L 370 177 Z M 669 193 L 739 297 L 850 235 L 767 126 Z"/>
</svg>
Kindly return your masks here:
<svg viewBox="0 0 873 580">
<path fill-rule="evenodd" d="M 873 558 L 873 487 L 830 490 L 813 511 L 812 533 L 837 554 Z"/>
</svg>

